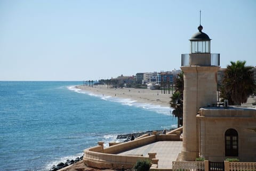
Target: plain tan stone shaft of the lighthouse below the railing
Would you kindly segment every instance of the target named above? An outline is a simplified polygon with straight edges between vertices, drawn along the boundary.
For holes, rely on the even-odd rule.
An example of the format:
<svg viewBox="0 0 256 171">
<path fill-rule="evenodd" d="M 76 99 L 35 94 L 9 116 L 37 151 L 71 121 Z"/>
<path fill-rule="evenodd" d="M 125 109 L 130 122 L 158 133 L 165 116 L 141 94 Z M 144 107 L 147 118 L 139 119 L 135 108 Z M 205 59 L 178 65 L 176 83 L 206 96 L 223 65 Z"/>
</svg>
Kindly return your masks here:
<svg viewBox="0 0 256 171">
<path fill-rule="evenodd" d="M 182 160 L 195 161 L 199 154 L 196 115 L 201 107 L 217 103 L 219 67 L 181 67 L 184 72 Z"/>
</svg>

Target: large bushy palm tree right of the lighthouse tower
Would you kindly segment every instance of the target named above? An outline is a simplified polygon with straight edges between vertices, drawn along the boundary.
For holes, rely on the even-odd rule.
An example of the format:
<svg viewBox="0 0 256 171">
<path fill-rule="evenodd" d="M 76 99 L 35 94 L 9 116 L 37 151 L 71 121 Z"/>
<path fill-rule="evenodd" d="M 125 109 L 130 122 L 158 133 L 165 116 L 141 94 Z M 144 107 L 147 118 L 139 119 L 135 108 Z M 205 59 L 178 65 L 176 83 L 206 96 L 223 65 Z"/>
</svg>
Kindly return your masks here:
<svg viewBox="0 0 256 171">
<path fill-rule="evenodd" d="M 249 95 L 256 89 L 251 70 L 253 67 L 245 66 L 246 61 L 230 63 L 222 80 L 220 96 L 231 105 L 241 105 L 247 102 Z"/>
</svg>

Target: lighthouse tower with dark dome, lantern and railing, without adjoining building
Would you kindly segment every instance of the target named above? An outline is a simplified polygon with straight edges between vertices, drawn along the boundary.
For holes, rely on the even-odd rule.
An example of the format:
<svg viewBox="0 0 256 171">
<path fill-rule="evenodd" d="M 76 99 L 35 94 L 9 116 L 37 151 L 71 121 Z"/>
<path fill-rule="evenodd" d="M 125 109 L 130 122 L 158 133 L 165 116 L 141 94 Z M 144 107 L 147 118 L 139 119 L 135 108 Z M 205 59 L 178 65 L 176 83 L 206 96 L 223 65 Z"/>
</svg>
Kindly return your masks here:
<svg viewBox="0 0 256 171">
<path fill-rule="evenodd" d="M 181 55 L 184 73 L 182 160 L 195 161 L 199 155 L 196 115 L 201 107 L 217 104 L 217 71 L 220 54 L 210 51 L 211 39 L 198 27 L 190 39 L 190 53 Z"/>
</svg>

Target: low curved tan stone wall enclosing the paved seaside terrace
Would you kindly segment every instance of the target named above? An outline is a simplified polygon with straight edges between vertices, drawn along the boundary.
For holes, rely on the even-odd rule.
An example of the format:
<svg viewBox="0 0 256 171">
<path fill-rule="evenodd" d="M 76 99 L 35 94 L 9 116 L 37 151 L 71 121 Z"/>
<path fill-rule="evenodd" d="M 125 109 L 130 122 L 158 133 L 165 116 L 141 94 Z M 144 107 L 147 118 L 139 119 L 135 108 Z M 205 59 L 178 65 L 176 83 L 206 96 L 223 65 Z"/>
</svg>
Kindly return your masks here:
<svg viewBox="0 0 256 171">
<path fill-rule="evenodd" d="M 180 129 L 180 128 L 179 128 Z M 157 132 L 153 132 L 153 135 L 142 135 L 137 139 L 125 143 L 111 143 L 108 148 L 103 148 L 103 142 L 98 142 L 97 146 L 84 150 L 83 162 L 86 166 L 99 168 L 99 169 L 129 169 L 132 168 L 138 160 L 150 159 L 154 166 L 157 166 L 158 159 L 156 153 L 148 153 L 149 157 L 142 157 L 140 154 L 134 154 L 134 156 L 124 156 L 117 153 L 127 151 L 139 146 L 147 145 L 156 141 L 179 141 L 180 131 L 174 131 L 169 135 L 157 135 Z M 153 167 L 154 167 L 153 166 Z M 165 171 L 169 171 L 166 168 Z"/>
</svg>

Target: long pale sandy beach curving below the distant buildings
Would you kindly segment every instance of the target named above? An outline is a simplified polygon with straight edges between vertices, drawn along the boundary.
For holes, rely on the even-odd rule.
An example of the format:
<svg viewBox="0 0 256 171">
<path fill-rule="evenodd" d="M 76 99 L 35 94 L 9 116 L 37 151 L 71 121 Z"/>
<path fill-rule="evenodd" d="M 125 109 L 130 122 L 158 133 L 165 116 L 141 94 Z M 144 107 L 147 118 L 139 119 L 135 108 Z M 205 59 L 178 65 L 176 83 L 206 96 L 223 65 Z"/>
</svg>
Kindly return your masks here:
<svg viewBox="0 0 256 171">
<path fill-rule="evenodd" d="M 141 88 L 107 88 L 105 85 L 98 86 L 77 86 L 79 89 L 99 94 L 102 96 L 112 96 L 122 99 L 135 100 L 138 103 L 149 103 L 170 107 L 170 97 L 172 94 L 162 94 L 161 90 L 141 89 Z M 167 91 L 168 93 L 168 91 Z M 170 92 L 172 93 L 172 92 Z"/>
</svg>

